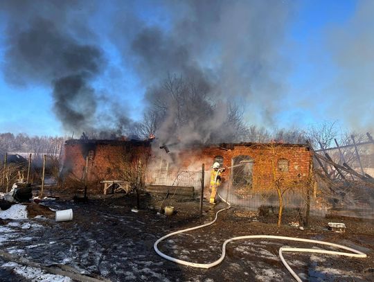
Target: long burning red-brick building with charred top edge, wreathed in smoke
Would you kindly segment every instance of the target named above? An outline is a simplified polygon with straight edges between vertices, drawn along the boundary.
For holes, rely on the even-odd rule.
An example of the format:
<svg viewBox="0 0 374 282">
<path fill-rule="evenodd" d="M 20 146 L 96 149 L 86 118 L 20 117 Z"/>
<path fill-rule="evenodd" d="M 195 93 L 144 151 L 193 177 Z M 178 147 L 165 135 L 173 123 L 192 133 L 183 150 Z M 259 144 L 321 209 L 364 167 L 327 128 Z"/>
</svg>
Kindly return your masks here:
<svg viewBox="0 0 374 282">
<path fill-rule="evenodd" d="M 155 146 L 152 141 L 69 140 L 65 143 L 62 173 L 64 179 L 78 182 L 84 182 L 87 175 L 89 188 L 103 193 L 101 181 L 129 180 L 131 171 L 139 174 L 140 164 L 149 189 L 188 186 L 198 191 L 202 164 L 207 185 L 215 161 L 222 167 L 233 167 L 222 174 L 222 186 L 233 188 L 243 199 L 253 197 L 253 193 L 264 197 L 265 191 L 274 192 L 275 184 L 298 194 L 298 189 L 308 183 L 312 155 L 308 146 L 286 143 L 222 143 L 174 150 Z"/>
</svg>

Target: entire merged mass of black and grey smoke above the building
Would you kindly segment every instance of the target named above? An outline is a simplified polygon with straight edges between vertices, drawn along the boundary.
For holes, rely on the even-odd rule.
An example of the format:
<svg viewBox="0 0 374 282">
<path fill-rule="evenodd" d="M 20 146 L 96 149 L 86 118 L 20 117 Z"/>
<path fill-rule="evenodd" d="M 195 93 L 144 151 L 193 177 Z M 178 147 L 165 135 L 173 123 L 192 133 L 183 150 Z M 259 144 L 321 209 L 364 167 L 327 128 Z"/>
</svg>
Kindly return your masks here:
<svg viewBox="0 0 374 282">
<path fill-rule="evenodd" d="M 294 9 L 291 1 L 111 1 L 105 8 L 102 1 L 78 0 L 0 5 L 8 23 L 6 80 L 21 87 L 51 87 L 53 109 L 66 131 L 100 124 L 107 132 L 123 133 L 136 127 L 124 111 L 119 118 L 107 111 L 114 114 L 101 125 L 95 82 L 109 68 L 109 51 L 103 46 L 114 49 L 126 73 L 134 73 L 146 89 L 145 114 L 157 114 L 157 135 L 163 142 L 232 141 L 235 126 L 241 126 L 238 118 L 271 124 L 279 110 L 287 68 L 278 46 Z M 177 100 L 165 89 L 172 77 L 183 80 Z M 166 107 L 159 113 L 154 105 L 161 100 Z M 235 104 L 243 107 L 235 109 Z"/>
</svg>

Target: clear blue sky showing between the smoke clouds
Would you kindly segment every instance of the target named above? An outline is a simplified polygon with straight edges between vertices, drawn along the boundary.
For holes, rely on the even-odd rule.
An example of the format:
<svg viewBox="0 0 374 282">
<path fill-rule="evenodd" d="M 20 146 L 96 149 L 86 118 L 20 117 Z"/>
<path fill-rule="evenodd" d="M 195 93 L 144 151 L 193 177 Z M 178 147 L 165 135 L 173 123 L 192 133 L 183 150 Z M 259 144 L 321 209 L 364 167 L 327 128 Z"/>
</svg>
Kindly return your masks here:
<svg viewBox="0 0 374 282">
<path fill-rule="evenodd" d="M 287 2 L 284 1 L 285 5 Z M 331 38 L 332 40 L 335 38 L 335 34 L 340 36 L 343 33 L 341 36 L 344 39 L 350 36 L 346 33 L 355 32 L 355 28 L 350 30 L 347 26 L 359 23 L 357 7 L 363 4 L 353 0 L 295 2 L 296 7 L 288 15 L 290 19 L 285 26 L 285 38 L 281 46 L 278 46 L 278 52 L 285 66 L 288 66 L 287 71 L 285 71 L 286 74 L 273 74 L 279 75 L 287 84 L 284 96 L 277 100 L 278 109 L 274 114 L 276 120 L 274 126 L 306 128 L 323 121 L 338 121 L 345 127 L 359 125 L 364 130 L 370 130 L 373 128 L 370 117 L 373 102 L 366 102 L 366 106 L 357 107 L 361 110 L 359 113 L 348 109 L 352 107 L 349 105 L 350 99 L 341 105 L 338 103 L 341 99 L 345 99 L 344 97 L 350 97 L 350 94 L 348 92 L 344 94 L 344 91 L 346 89 L 352 91 L 355 84 L 342 81 L 344 76 L 341 76 L 341 66 L 349 67 L 350 64 L 334 57 L 337 49 L 334 42 L 330 42 Z M 95 30 L 96 40 L 105 53 L 108 66 L 105 71 L 94 78 L 92 85 L 98 94 L 105 92 L 105 95 L 112 98 L 114 104 L 118 107 L 121 105 L 121 111 L 126 112 L 130 118 L 140 120 L 145 109 L 143 97 L 147 85 L 143 83 L 143 78 L 139 76 L 139 73 L 136 73 L 134 66 L 129 63 L 130 59 L 123 57 L 123 50 L 118 49 L 118 44 L 113 44 L 108 39 L 107 33 L 110 27 L 107 24 L 111 23 L 108 17 L 111 11 L 117 8 L 111 6 L 111 2 L 108 3 L 107 6 L 101 4 L 100 12 L 96 12 L 93 17 L 89 18 L 89 26 Z M 168 14 L 168 7 L 155 6 L 152 1 L 138 1 L 129 6 L 134 17 L 148 26 L 157 25 L 163 30 L 168 30 L 175 21 Z M 0 30 L 2 31 L 6 30 L 8 23 L 6 17 L 6 13 L 0 14 Z M 101 24 L 103 19 L 106 24 Z M 116 24 L 114 19 L 113 24 Z M 368 24 L 373 24 L 373 21 L 369 21 Z M 132 26 L 128 28 L 130 30 Z M 374 30 L 374 26 L 368 26 L 368 30 Z M 0 37 L 0 67 L 3 70 L 3 62 L 6 60 L 5 51 L 8 46 L 5 33 L 1 34 L 3 36 Z M 374 35 L 368 32 L 364 36 L 373 37 Z M 123 39 L 123 45 L 125 44 L 128 44 L 127 39 Z M 355 50 L 353 47 L 347 49 L 347 52 Z M 212 50 L 204 52 L 212 53 Z M 368 67 L 368 70 L 370 69 L 371 66 Z M 30 135 L 70 134 L 64 130 L 53 111 L 54 100 L 51 95 L 53 91 L 51 85 L 31 82 L 28 87 L 17 87 L 6 82 L 3 72 L 0 74 L 0 132 L 26 132 Z M 349 71 L 345 75 L 349 76 Z M 365 78 L 364 75 L 360 77 Z M 370 77 L 365 79 L 370 79 Z M 357 90 L 360 91 L 360 89 Z M 370 95 L 368 91 L 362 94 L 361 98 L 374 100 L 374 95 Z M 98 103 L 98 112 L 105 113 L 109 110 L 106 103 Z M 350 118 L 346 118 L 344 111 Z M 354 120 L 357 114 L 363 115 L 360 121 Z M 244 116 L 248 118 L 249 123 L 262 125 L 260 118 Z"/>
</svg>

